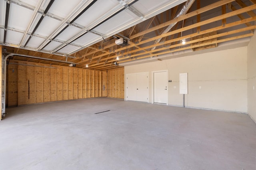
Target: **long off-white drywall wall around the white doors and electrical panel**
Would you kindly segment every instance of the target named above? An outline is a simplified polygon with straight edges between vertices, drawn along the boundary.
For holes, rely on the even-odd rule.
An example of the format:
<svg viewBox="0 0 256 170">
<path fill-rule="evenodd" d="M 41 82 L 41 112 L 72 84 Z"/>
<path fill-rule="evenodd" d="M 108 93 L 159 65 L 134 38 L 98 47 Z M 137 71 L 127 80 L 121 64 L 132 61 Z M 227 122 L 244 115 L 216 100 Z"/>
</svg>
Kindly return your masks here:
<svg viewBox="0 0 256 170">
<path fill-rule="evenodd" d="M 183 105 L 179 73 L 188 73 L 185 106 L 247 113 L 247 47 L 125 66 L 124 73 L 149 71 L 151 92 L 151 71 L 166 69 L 168 79 L 172 80 L 168 83 L 169 105 Z M 151 101 L 152 93 L 149 94 Z"/>
</svg>

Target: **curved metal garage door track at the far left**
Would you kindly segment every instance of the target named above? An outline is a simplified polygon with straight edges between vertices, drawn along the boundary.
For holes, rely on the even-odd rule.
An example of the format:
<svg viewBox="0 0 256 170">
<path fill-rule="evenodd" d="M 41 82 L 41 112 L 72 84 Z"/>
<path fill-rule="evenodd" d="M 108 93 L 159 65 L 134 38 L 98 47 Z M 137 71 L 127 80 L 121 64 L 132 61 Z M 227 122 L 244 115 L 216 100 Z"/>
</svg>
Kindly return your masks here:
<svg viewBox="0 0 256 170">
<path fill-rule="evenodd" d="M 73 63 L 73 62 L 68 62 L 68 61 L 62 61 L 58 59 L 49 59 L 49 58 L 43 58 L 43 57 L 36 57 L 36 56 L 30 56 L 30 55 L 23 55 L 23 54 L 16 54 L 16 53 L 10 53 L 6 55 L 6 57 L 2 58 L 2 75 L 4 74 L 4 79 L 2 79 L 2 117 L 5 116 L 5 103 L 6 103 L 6 61 L 7 58 L 13 55 L 18 55 L 22 57 L 30 57 L 30 58 L 35 58 L 35 59 L 43 59 L 43 60 L 48 60 L 48 61 L 55 61 L 55 62 L 60 62 L 60 63 L 67 63 L 67 64 L 78 64 L 78 63 Z"/>
</svg>

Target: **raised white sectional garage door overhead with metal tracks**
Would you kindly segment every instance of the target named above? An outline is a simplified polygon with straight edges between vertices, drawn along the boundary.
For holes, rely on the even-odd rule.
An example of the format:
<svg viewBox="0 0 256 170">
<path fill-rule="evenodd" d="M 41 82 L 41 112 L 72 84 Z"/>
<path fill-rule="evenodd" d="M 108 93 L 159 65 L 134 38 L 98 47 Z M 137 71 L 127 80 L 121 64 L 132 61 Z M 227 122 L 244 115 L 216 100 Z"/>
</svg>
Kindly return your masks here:
<svg viewBox="0 0 256 170">
<path fill-rule="evenodd" d="M 44 15 L 52 1 L 0 0 L 0 44 L 70 55 L 186 0 L 54 0 Z"/>
</svg>

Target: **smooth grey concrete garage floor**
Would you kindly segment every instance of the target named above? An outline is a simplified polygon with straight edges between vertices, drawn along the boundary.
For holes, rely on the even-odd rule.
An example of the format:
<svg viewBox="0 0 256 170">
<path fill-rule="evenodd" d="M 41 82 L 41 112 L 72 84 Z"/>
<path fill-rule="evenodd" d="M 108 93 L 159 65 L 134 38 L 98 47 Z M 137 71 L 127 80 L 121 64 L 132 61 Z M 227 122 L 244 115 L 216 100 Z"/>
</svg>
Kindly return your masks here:
<svg viewBox="0 0 256 170">
<path fill-rule="evenodd" d="M 106 98 L 7 112 L 1 170 L 256 170 L 248 115 Z"/>
</svg>

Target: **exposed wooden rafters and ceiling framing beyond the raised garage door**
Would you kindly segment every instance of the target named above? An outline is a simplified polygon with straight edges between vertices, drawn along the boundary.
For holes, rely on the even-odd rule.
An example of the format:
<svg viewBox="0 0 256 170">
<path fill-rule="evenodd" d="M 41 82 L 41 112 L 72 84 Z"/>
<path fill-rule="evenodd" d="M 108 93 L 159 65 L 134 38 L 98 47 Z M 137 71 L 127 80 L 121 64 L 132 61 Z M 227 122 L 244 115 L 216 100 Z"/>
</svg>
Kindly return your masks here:
<svg viewBox="0 0 256 170">
<path fill-rule="evenodd" d="M 12 48 L 14 49 L 13 52 L 16 53 L 78 63 L 77 67 L 81 68 L 85 68 L 86 64 L 88 64 L 88 69 L 114 69 L 120 67 L 114 65 L 114 62 L 116 61 L 116 55 L 121 55 L 118 63 L 125 63 L 128 61 L 143 59 L 147 57 L 158 57 L 162 54 L 197 47 L 200 48 L 204 45 L 211 45 L 252 36 L 253 32 L 250 32 L 250 30 L 254 30 L 256 28 L 255 26 L 252 26 L 252 22 L 256 21 L 256 14 L 253 11 L 256 9 L 256 0 L 250 1 L 253 3 L 253 5 L 250 3 L 250 6 L 248 6 L 248 4 L 244 3 L 245 0 L 219 0 L 218 2 L 200 8 L 200 0 L 196 0 L 194 6 L 192 6 L 190 9 L 196 10 L 192 12 L 189 11 L 187 14 L 174 19 L 178 9 L 180 6 L 182 6 L 182 4 L 180 4 L 180 6 L 175 6 L 174 8 L 159 14 L 158 16 L 154 16 L 147 21 L 144 21 L 118 33 L 118 35 L 129 38 L 127 46 L 116 47 L 114 38 L 109 37 L 106 38 L 106 40 L 102 40 L 101 42 L 85 47 L 81 51 L 77 51 L 76 53 L 71 54 L 71 56 L 75 58 L 49 53 L 40 53 L 37 51 L 29 51 L 14 47 Z M 234 2 L 239 6 L 237 5 L 235 7 Z M 230 8 L 231 12 L 230 10 L 227 10 L 227 13 L 226 7 Z M 201 17 L 204 17 L 203 13 L 206 12 L 209 14 L 210 10 L 221 10 L 221 14 L 218 13 L 220 16 L 214 16 L 212 18 L 209 17 L 210 19 L 204 19 L 201 21 Z M 236 16 L 238 16 L 240 20 L 230 23 L 228 19 Z M 196 22 L 190 24 L 189 21 L 191 20 L 196 20 Z M 184 26 L 182 26 L 181 22 L 184 22 Z M 217 23 L 218 26 L 211 26 L 210 28 L 206 29 L 205 25 L 214 25 L 211 23 Z M 162 31 L 170 24 L 175 25 L 168 33 L 161 34 Z M 246 26 L 244 24 L 246 24 Z M 208 34 L 210 32 L 215 33 L 210 35 Z M 155 40 L 159 38 L 162 39 L 161 42 L 154 44 Z M 186 45 L 181 44 L 181 39 L 187 40 Z M 25 61 L 29 62 L 66 65 L 64 63 L 44 61 L 41 59 L 27 59 L 24 57 L 15 57 L 15 59 L 25 59 Z"/>
</svg>

